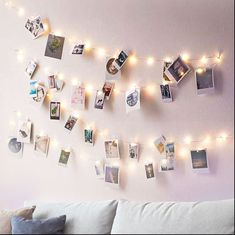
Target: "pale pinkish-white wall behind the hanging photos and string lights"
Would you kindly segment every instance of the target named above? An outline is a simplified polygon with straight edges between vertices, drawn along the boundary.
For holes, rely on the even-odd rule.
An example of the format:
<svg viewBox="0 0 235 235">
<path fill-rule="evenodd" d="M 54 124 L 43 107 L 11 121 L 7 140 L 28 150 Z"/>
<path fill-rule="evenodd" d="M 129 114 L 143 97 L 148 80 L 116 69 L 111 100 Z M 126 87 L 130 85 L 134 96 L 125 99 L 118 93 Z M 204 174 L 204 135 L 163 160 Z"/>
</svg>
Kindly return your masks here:
<svg viewBox="0 0 235 235">
<path fill-rule="evenodd" d="M 127 198 L 134 200 L 215 200 L 234 197 L 233 139 L 224 144 L 213 141 L 208 146 L 211 172 L 206 175 L 192 173 L 189 156 L 178 153 L 177 169 L 157 173 L 155 180 L 146 180 L 144 162 L 157 163 L 157 151 L 149 147 L 149 140 L 161 134 L 176 140 L 179 149 L 187 135 L 195 139 L 220 135 L 233 135 L 234 121 L 234 47 L 232 0 L 21 0 L 26 16 L 19 18 L 14 10 L 0 4 L 0 208 L 22 206 L 24 200 L 97 200 Z M 44 57 L 47 37 L 32 40 L 24 29 L 27 16 L 48 18 L 53 31 L 60 30 L 66 37 L 61 61 Z M 103 139 L 97 137 L 94 148 L 83 143 L 82 121 L 72 134 L 63 128 L 63 120 L 49 120 L 48 107 L 35 109 L 28 103 L 28 79 L 24 68 L 30 58 L 36 58 L 40 68 L 37 79 L 46 81 L 44 68 L 62 72 L 67 85 L 61 100 L 69 102 L 71 79 L 101 87 L 104 82 L 103 60 L 72 57 L 69 55 L 69 36 L 78 40 L 90 39 L 94 45 L 115 51 L 130 48 L 138 55 L 157 58 L 176 57 L 188 52 L 193 58 L 213 55 L 218 50 L 224 61 L 215 69 L 216 93 L 198 97 L 193 76 L 188 77 L 174 91 L 175 101 L 163 104 L 159 91 L 153 97 L 142 95 L 142 108 L 129 115 L 125 113 L 124 94 L 107 103 L 103 111 L 95 110 L 94 95 L 89 97 L 82 121 L 95 123 L 99 130 L 109 130 L 110 136 L 129 141 L 138 138 L 143 144 L 141 159 L 131 168 L 122 143 L 122 172 L 119 189 L 95 178 L 93 162 L 104 157 Z M 26 60 L 19 63 L 14 52 L 23 48 Z M 134 83 L 145 85 L 161 81 L 162 66 L 147 67 L 144 62 L 132 69 L 129 78 L 117 83 L 128 89 Z M 59 167 L 59 146 L 50 148 L 48 158 L 36 157 L 32 145 L 26 145 L 21 160 L 14 159 L 7 149 L 6 139 L 14 134 L 10 120 L 17 120 L 15 110 L 30 117 L 34 133 L 44 130 L 59 146 L 71 145 L 76 157 L 67 168 Z"/>
</svg>

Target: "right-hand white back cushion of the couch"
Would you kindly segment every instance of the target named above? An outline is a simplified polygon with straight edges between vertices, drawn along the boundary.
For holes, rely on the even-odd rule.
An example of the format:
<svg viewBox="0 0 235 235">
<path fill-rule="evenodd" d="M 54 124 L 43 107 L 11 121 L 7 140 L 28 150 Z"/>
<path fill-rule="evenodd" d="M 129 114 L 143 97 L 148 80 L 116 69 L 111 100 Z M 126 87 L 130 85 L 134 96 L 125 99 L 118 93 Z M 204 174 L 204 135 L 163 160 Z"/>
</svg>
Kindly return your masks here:
<svg viewBox="0 0 235 235">
<path fill-rule="evenodd" d="M 233 234 L 234 200 L 187 203 L 120 201 L 112 234 Z"/>
</svg>

